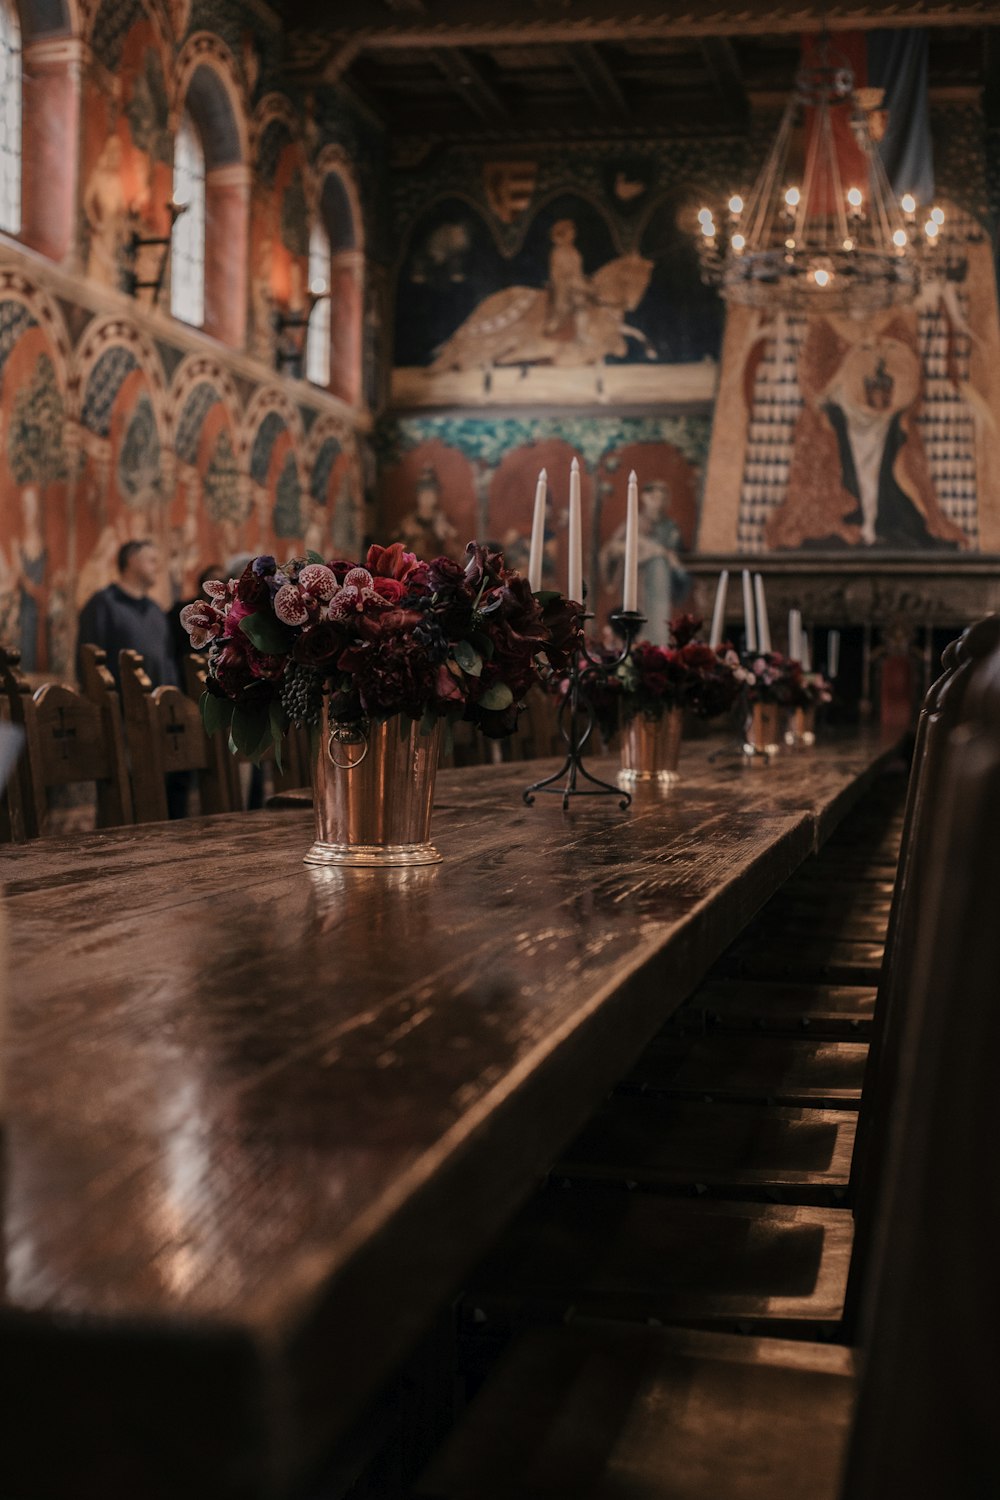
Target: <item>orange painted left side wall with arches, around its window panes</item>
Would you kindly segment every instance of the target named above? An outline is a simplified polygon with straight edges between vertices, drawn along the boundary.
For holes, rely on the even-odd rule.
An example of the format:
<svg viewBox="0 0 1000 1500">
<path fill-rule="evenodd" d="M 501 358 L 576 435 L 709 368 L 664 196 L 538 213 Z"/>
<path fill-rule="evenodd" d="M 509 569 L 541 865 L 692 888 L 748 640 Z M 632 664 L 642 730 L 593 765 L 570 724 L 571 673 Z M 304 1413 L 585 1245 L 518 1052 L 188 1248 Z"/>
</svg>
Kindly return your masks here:
<svg viewBox="0 0 1000 1500">
<path fill-rule="evenodd" d="M 70 26 L 67 9 L 48 6 L 36 33 L 67 36 Z M 334 92 L 297 105 L 280 92 L 280 30 L 265 8 L 99 0 L 79 26 L 82 72 L 66 50 L 66 78 L 55 76 L 60 54 L 46 72 L 52 87 L 25 93 L 22 240 L 55 264 L 27 258 L 7 236 L 0 244 L 0 639 L 19 648 L 25 670 L 67 678 L 78 612 L 115 576 L 126 540 L 159 543 L 163 606 L 192 597 L 210 564 L 247 550 L 360 555 L 370 462 L 363 418 L 334 399 L 360 388 L 360 315 L 354 333 L 348 309 L 351 338 L 333 351 L 327 392 L 276 369 L 273 312 L 301 304 L 324 192 L 340 194 L 337 244 L 349 244 L 364 285 L 372 226 L 352 190 L 351 148 L 369 168 L 379 148 Z M 48 150 L 52 122 L 40 129 L 30 114 L 39 98 L 46 116 L 64 111 L 70 141 L 82 132 L 78 182 L 76 153 Z M 169 230 L 184 108 L 205 153 L 205 286 L 225 288 L 219 302 L 231 303 L 231 315 L 210 320 L 207 309 L 211 340 L 172 322 L 168 296 L 159 310 L 148 292 L 126 296 L 129 273 L 144 280 L 162 256 L 136 238 Z M 78 273 L 60 264 L 63 198 L 76 204 Z"/>
</svg>

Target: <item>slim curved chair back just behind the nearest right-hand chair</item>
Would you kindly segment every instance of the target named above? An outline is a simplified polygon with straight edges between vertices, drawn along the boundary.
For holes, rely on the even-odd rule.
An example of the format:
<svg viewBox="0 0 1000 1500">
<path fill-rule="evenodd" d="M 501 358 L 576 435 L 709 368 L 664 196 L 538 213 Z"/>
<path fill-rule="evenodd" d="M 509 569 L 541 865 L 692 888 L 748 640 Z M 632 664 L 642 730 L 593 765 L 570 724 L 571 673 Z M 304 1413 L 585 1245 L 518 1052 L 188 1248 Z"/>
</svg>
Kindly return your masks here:
<svg viewBox="0 0 1000 1500">
<path fill-rule="evenodd" d="M 931 686 L 916 729 L 913 771 L 897 870 L 885 958 L 876 1002 L 865 1092 L 858 1120 L 852 1168 L 852 1198 L 856 1236 L 844 1306 L 844 1330 L 858 1335 L 861 1300 L 870 1278 L 870 1262 L 888 1170 L 888 1132 L 894 1119 L 900 1070 L 904 1062 L 903 1030 L 916 980 L 921 934 L 921 902 L 933 870 L 930 846 L 937 826 L 946 747 L 960 722 L 964 693 L 976 660 L 993 642 L 1000 642 L 1000 618 L 990 616 L 970 627 L 945 652 L 945 670 Z"/>
</svg>

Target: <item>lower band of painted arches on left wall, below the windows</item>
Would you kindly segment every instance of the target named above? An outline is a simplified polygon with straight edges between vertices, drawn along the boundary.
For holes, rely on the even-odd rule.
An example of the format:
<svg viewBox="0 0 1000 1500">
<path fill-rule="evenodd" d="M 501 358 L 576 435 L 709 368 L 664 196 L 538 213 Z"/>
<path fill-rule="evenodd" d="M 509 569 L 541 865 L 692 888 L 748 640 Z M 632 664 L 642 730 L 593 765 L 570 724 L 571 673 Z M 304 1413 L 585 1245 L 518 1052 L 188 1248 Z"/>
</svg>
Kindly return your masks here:
<svg viewBox="0 0 1000 1500">
<path fill-rule="evenodd" d="M 279 387 L 244 404 L 208 356 L 168 380 L 117 318 L 94 318 L 70 346 L 45 292 L 1 270 L 0 411 L 0 638 L 28 672 L 72 675 L 76 615 L 130 538 L 162 549 L 163 606 L 241 552 L 363 544 L 363 462 L 342 417 L 306 432 Z"/>
</svg>

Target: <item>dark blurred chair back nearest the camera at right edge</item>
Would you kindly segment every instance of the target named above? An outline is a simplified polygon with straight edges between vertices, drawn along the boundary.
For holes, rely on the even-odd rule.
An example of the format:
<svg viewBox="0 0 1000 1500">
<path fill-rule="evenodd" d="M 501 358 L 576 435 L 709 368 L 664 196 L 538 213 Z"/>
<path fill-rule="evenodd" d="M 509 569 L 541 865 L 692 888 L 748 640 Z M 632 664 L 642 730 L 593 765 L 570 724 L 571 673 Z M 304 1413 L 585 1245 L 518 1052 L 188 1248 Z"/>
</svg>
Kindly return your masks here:
<svg viewBox="0 0 1000 1500">
<path fill-rule="evenodd" d="M 844 1500 L 997 1492 L 999 620 L 948 696 Z"/>
</svg>

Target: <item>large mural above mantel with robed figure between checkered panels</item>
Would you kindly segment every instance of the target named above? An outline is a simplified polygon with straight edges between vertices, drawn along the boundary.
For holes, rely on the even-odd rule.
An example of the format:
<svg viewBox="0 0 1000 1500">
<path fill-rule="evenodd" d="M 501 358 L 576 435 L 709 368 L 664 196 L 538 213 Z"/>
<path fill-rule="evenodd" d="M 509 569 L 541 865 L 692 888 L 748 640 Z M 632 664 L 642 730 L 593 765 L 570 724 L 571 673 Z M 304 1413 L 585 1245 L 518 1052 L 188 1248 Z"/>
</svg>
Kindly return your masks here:
<svg viewBox="0 0 1000 1500">
<path fill-rule="evenodd" d="M 708 470 L 706 552 L 1000 549 L 993 250 L 868 320 L 733 308 Z"/>
</svg>

